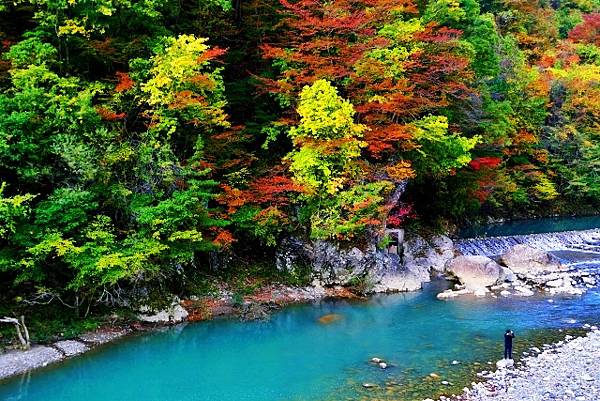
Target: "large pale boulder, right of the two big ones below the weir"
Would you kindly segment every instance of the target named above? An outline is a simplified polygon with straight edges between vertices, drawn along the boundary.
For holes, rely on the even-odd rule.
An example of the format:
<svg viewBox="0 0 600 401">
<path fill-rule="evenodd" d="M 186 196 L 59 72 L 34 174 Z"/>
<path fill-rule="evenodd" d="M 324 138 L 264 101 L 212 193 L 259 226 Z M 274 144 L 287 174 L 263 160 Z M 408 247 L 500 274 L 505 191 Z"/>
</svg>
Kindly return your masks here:
<svg viewBox="0 0 600 401">
<path fill-rule="evenodd" d="M 502 255 L 501 261 L 515 274 L 522 276 L 563 269 L 563 266 L 555 261 L 548 252 L 524 244 L 518 244 L 508 249 Z"/>
</svg>

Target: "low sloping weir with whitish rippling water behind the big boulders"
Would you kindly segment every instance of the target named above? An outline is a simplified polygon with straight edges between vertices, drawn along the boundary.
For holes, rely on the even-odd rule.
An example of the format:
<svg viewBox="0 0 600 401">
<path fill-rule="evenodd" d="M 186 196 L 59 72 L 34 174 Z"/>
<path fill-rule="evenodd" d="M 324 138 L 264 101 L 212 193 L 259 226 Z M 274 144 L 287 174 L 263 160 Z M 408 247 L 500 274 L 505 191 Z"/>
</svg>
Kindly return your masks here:
<svg viewBox="0 0 600 401">
<path fill-rule="evenodd" d="M 600 229 L 564 231 L 544 234 L 511 235 L 507 237 L 463 238 L 456 249 L 463 255 L 498 256 L 517 244 L 526 244 L 543 251 L 584 251 L 600 258 Z"/>
</svg>

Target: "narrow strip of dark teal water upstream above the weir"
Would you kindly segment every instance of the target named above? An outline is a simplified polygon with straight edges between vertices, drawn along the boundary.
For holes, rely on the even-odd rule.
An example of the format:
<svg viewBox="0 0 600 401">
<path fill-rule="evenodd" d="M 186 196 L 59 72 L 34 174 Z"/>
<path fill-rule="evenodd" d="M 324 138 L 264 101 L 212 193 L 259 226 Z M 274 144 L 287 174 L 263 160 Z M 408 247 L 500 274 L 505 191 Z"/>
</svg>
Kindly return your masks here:
<svg viewBox="0 0 600 401">
<path fill-rule="evenodd" d="M 600 216 L 547 217 L 531 220 L 514 220 L 465 227 L 460 230 L 461 238 L 502 237 L 508 235 L 540 234 L 560 231 L 590 230 L 600 228 Z"/>
</svg>

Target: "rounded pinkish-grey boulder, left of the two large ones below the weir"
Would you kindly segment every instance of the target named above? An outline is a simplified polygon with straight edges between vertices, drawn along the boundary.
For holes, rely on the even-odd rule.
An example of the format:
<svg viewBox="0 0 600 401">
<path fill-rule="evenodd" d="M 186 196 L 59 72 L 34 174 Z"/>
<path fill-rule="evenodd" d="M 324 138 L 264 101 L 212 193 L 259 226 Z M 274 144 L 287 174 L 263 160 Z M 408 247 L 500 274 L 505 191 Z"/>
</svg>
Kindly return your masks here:
<svg viewBox="0 0 600 401">
<path fill-rule="evenodd" d="M 446 272 L 469 291 L 489 287 L 503 280 L 503 269 L 487 256 L 457 256 L 446 263 Z"/>
</svg>

